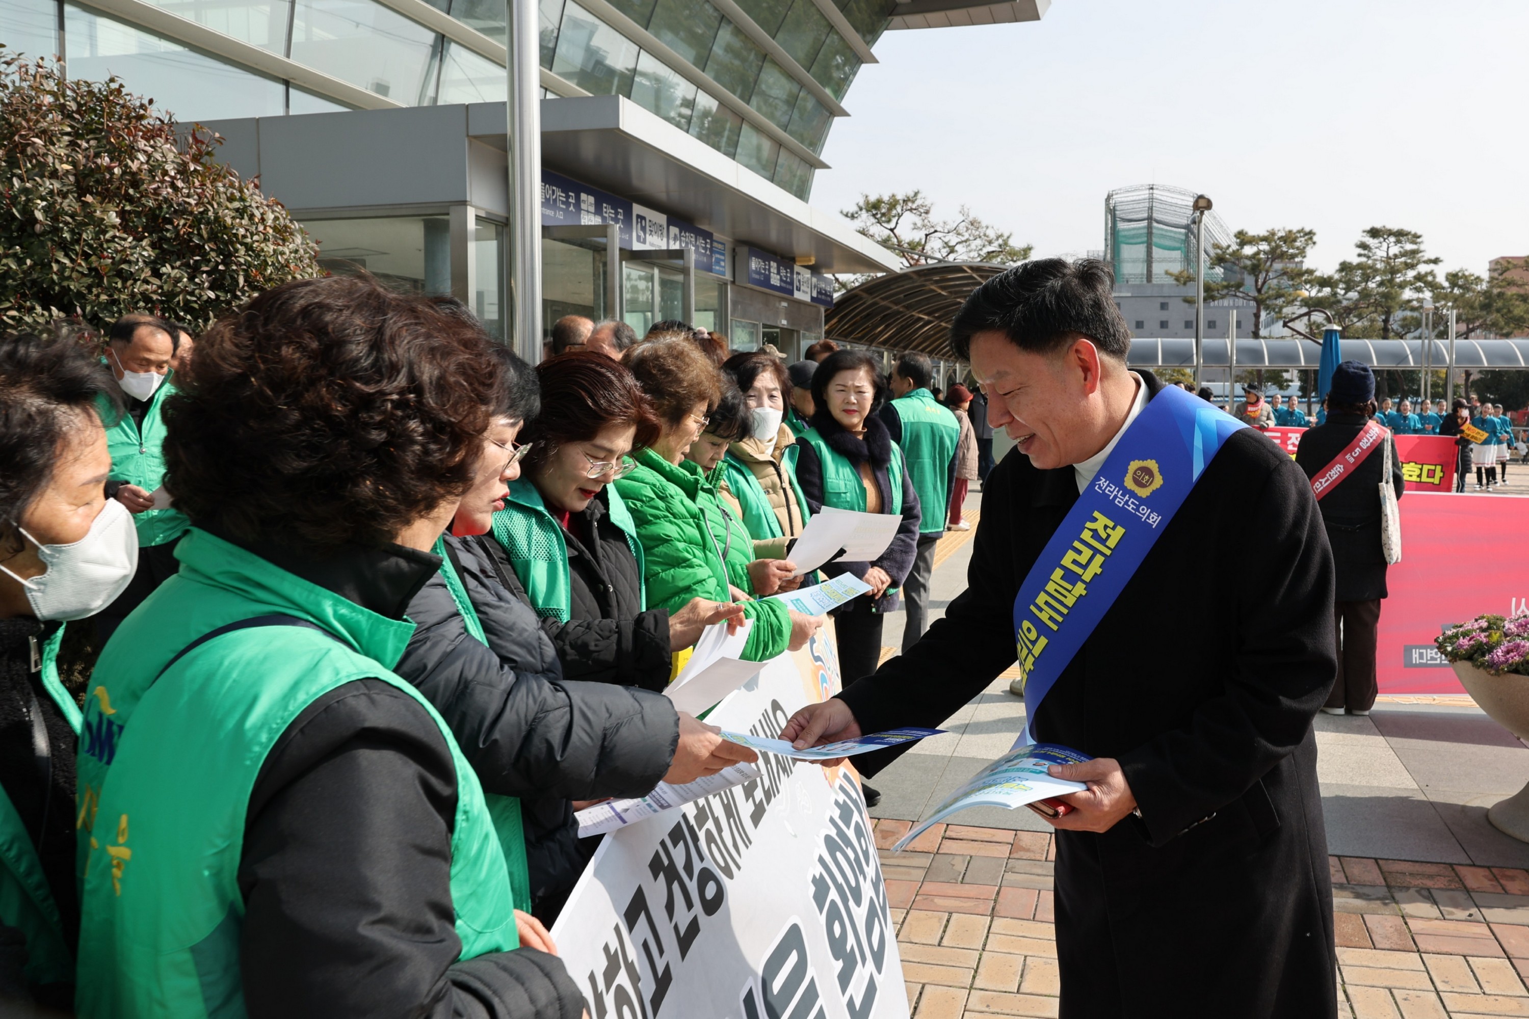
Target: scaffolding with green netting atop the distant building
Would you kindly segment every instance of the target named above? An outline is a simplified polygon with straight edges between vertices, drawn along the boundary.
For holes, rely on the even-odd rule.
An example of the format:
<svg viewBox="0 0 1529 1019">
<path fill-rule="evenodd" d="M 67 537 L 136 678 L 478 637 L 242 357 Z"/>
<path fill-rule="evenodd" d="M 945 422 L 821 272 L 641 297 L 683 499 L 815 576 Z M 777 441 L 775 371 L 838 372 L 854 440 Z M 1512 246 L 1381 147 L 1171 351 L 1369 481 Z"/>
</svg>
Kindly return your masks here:
<svg viewBox="0 0 1529 1019">
<path fill-rule="evenodd" d="M 1104 260 L 1115 273 L 1115 286 L 1168 283 L 1171 272 L 1193 272 L 1194 191 L 1165 183 L 1139 183 L 1116 188 L 1104 196 Z M 1209 264 L 1216 244 L 1229 244 L 1231 231 L 1216 212 L 1205 214 L 1208 251 L 1205 278 L 1220 280 L 1220 269 Z"/>
</svg>

